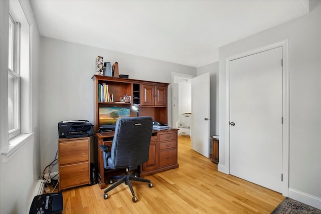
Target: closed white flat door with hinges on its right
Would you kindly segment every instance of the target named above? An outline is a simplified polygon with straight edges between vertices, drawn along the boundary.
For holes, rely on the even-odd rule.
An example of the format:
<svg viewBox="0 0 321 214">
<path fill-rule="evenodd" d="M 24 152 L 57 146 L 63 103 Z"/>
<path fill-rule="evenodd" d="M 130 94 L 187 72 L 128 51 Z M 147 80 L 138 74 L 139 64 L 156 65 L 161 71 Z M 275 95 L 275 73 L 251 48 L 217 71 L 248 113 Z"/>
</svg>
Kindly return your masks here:
<svg viewBox="0 0 321 214">
<path fill-rule="evenodd" d="M 230 174 L 282 192 L 282 47 L 230 62 Z"/>
</svg>

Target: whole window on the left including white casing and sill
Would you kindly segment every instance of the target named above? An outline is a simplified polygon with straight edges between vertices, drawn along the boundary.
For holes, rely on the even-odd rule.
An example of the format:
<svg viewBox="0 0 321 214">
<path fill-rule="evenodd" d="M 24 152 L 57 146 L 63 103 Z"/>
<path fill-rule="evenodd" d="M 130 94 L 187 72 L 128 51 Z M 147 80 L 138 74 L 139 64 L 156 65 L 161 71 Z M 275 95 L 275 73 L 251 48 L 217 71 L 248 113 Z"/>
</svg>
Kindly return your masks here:
<svg viewBox="0 0 321 214">
<path fill-rule="evenodd" d="M 2 78 L 6 78 L 4 76 L 8 78 L 8 91 L 0 91 L 0 94 L 5 97 L 8 94 L 8 108 L 6 106 L 5 110 L 1 112 L 4 113 L 1 116 L 8 119 L 0 121 L 1 124 L 4 124 L 4 130 L 8 130 L 8 140 L 0 142 L 1 154 L 4 155 L 5 162 L 25 143 L 30 142 L 33 137 L 30 82 L 32 25 L 28 21 L 30 12 L 28 2 L 26 2 L 10 0 L 7 18 L 9 25 L 8 29 L 4 29 L 8 31 L 9 39 L 1 38 L 1 42 L 8 44 L 9 47 L 7 53 L 0 53 L 8 54 L 8 76 L 6 73 L 1 73 Z"/>
</svg>

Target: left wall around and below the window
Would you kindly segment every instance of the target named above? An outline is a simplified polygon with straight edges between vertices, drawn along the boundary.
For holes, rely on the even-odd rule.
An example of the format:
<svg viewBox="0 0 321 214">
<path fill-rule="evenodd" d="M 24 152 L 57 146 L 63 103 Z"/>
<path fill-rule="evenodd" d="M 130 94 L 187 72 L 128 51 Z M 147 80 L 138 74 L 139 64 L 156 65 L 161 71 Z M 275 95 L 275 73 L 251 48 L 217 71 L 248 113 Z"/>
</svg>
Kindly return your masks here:
<svg viewBox="0 0 321 214">
<path fill-rule="evenodd" d="M 39 141 L 39 43 L 40 35 L 33 17 L 29 1 L 21 1 L 27 19 L 31 27 L 31 103 L 32 103 L 32 131 L 33 138 L 22 146 L 7 162 L 2 157 L 0 160 L 0 213 L 27 213 L 29 212 L 32 195 L 36 181 L 41 173 L 40 169 L 40 141 Z M 9 23 L 9 1 L 0 1 L 0 26 L 1 26 L 1 59 L 7 59 L 6 63 L 1 61 L 1 114 L 6 105 L 8 106 L 8 87 L 3 87 L 3 81 L 8 81 L 8 23 Z M 4 49 L 4 47 L 6 47 Z M 3 51 L 7 50 L 7 51 Z M 4 84 L 7 85 L 7 84 Z M 7 85 L 8 86 L 8 85 Z M 8 113 L 0 120 L 0 129 L 8 126 Z M 8 132 L 0 132 L 1 142 L 8 142 Z"/>
</svg>

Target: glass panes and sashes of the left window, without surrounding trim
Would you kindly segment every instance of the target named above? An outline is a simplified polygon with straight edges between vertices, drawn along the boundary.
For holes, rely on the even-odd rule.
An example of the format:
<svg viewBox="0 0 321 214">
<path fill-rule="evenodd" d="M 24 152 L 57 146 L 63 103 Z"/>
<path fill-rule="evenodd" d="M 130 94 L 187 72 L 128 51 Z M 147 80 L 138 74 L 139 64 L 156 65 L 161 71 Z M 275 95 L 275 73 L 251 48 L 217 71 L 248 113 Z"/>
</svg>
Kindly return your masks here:
<svg viewBox="0 0 321 214">
<path fill-rule="evenodd" d="M 20 134 L 20 27 L 20 23 L 15 22 L 10 15 L 8 62 L 9 140 Z"/>
</svg>

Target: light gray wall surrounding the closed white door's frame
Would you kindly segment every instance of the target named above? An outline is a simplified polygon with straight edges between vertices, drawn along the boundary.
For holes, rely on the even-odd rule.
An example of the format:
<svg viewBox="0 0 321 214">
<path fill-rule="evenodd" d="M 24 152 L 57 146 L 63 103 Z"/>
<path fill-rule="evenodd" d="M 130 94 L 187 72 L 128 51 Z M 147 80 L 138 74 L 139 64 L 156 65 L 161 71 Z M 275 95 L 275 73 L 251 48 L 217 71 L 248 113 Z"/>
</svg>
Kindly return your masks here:
<svg viewBox="0 0 321 214">
<path fill-rule="evenodd" d="M 288 39 L 289 42 L 289 196 L 321 208 L 321 2 L 310 13 L 220 48 L 219 170 L 226 170 L 225 59 Z"/>
</svg>

